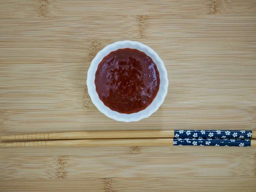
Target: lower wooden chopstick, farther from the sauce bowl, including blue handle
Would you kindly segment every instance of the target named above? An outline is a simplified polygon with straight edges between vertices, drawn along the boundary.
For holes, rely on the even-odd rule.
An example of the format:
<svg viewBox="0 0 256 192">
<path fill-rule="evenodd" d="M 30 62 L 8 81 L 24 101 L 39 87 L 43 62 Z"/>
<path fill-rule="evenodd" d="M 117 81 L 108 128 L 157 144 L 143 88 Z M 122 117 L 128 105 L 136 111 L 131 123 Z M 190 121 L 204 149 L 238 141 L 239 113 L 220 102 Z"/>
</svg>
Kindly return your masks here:
<svg viewBox="0 0 256 192">
<path fill-rule="evenodd" d="M 193 146 L 240 146 L 255 147 L 256 140 L 235 140 L 235 139 L 84 139 L 84 140 L 53 140 L 53 141 L 25 141 L 0 143 L 0 148 L 17 147 L 95 147 L 95 146 L 172 146 L 172 145 L 193 145 Z"/>
</svg>

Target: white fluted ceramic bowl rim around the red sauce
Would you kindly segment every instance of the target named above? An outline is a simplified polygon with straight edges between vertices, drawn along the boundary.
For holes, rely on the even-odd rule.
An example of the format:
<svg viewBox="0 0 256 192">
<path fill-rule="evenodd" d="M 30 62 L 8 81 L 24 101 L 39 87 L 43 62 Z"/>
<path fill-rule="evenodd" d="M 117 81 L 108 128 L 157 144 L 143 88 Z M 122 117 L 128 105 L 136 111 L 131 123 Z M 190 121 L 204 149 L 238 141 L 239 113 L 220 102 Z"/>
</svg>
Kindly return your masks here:
<svg viewBox="0 0 256 192">
<path fill-rule="evenodd" d="M 96 86 L 94 83 L 95 73 L 102 59 L 110 52 L 124 48 L 138 49 L 139 51 L 145 52 L 145 54 L 151 57 L 154 63 L 157 65 L 157 70 L 159 71 L 160 75 L 159 90 L 153 102 L 150 105 L 148 105 L 148 107 L 145 108 L 143 111 L 131 114 L 118 113 L 116 111 L 112 111 L 110 108 L 104 105 L 104 103 L 99 99 L 98 93 L 96 92 Z M 96 108 L 98 108 L 100 112 L 104 113 L 109 118 L 123 122 L 139 121 L 140 119 L 144 119 L 151 116 L 151 114 L 157 111 L 160 105 L 162 105 L 168 89 L 167 71 L 166 68 L 164 67 L 163 61 L 160 59 L 157 53 L 154 52 L 154 50 L 150 47 L 141 44 L 137 41 L 117 41 L 99 51 L 93 59 L 93 61 L 91 62 L 90 68 L 87 73 L 87 88 L 93 104 L 96 106 Z"/>
</svg>

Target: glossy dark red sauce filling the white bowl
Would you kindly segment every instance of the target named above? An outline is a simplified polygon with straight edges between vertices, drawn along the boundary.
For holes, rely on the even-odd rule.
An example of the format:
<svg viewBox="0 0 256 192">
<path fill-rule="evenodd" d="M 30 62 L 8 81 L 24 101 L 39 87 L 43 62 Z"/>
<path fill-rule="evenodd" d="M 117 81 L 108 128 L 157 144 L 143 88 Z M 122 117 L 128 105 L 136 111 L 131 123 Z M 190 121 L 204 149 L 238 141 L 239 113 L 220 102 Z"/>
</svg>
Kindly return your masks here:
<svg viewBox="0 0 256 192">
<path fill-rule="evenodd" d="M 105 56 L 95 74 L 96 92 L 104 105 L 119 113 L 147 108 L 159 90 L 156 64 L 137 49 L 117 49 Z"/>
</svg>

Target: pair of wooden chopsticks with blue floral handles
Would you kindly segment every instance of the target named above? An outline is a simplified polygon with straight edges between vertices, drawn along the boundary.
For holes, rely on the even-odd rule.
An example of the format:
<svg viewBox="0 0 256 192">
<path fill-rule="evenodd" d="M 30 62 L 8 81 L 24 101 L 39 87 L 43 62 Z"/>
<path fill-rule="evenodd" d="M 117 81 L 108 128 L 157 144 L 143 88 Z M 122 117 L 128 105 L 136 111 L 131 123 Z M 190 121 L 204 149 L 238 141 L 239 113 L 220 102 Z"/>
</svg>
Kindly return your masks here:
<svg viewBox="0 0 256 192">
<path fill-rule="evenodd" d="M 253 131 L 233 130 L 129 130 L 16 134 L 0 137 L 1 148 L 53 146 L 256 146 Z M 8 142 L 8 141 L 18 142 Z M 33 140 L 33 141 L 31 141 Z"/>
</svg>

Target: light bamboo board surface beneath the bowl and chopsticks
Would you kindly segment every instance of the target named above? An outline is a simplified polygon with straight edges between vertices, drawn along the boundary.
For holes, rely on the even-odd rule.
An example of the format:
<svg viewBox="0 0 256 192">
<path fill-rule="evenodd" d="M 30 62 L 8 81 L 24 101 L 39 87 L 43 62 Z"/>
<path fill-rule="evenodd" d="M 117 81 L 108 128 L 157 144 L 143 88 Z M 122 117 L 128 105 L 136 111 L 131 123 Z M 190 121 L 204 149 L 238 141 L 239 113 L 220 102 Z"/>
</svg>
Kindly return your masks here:
<svg viewBox="0 0 256 192">
<path fill-rule="evenodd" d="M 90 101 L 90 61 L 140 41 L 169 92 L 140 122 Z M 256 130 L 255 0 L 1 0 L 0 135 L 128 129 Z M 256 149 L 0 149 L 1 191 L 256 191 Z"/>
</svg>

